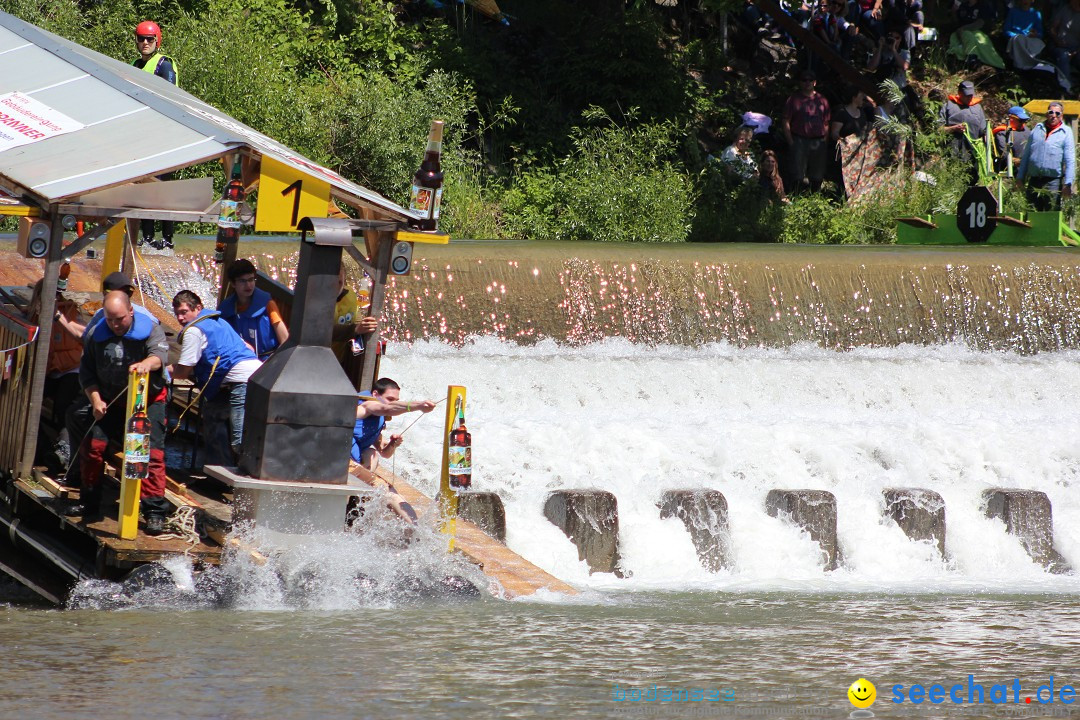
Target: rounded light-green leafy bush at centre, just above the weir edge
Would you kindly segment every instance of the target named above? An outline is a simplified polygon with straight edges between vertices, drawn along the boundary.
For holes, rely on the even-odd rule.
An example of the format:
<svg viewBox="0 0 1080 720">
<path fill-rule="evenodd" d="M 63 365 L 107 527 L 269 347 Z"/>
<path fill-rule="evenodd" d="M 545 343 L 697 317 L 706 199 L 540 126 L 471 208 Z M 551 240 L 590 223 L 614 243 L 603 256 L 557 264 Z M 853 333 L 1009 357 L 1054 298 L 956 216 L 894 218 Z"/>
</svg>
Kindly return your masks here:
<svg viewBox="0 0 1080 720">
<path fill-rule="evenodd" d="M 597 124 L 571 131 L 571 154 L 526 168 L 503 196 L 510 232 L 544 240 L 686 240 L 694 191 L 672 157 L 675 124 L 620 126 L 597 108 L 584 119 Z"/>
</svg>

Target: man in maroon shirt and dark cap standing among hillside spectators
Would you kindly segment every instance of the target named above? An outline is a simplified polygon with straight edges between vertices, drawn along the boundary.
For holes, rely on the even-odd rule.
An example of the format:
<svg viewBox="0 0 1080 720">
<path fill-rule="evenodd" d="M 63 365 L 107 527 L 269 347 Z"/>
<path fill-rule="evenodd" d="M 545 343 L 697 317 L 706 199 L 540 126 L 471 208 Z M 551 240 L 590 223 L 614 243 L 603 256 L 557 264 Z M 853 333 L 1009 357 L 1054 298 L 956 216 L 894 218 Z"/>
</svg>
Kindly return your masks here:
<svg viewBox="0 0 1080 720">
<path fill-rule="evenodd" d="M 810 190 L 816 192 L 825 177 L 828 158 L 825 136 L 831 120 L 828 100 L 815 90 L 818 76 L 812 70 L 799 73 L 799 90 L 784 104 L 781 128 L 788 146 L 788 181 L 785 187 L 794 192 L 809 180 Z"/>
</svg>

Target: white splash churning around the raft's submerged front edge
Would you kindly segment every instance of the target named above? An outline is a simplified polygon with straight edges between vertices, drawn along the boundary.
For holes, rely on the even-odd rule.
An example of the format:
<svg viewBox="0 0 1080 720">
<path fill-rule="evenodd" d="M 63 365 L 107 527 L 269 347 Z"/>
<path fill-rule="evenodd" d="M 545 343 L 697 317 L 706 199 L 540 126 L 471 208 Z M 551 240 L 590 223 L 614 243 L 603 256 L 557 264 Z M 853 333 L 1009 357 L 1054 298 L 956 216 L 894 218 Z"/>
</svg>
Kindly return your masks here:
<svg viewBox="0 0 1080 720">
<path fill-rule="evenodd" d="M 240 545 L 220 567 L 197 572 L 188 558 L 173 556 L 140 566 L 122 582 L 82 581 L 68 607 L 347 611 L 500 594 L 478 568 L 446 553 L 446 536 L 434 527 L 406 530 L 381 506 L 356 530 L 291 545 L 244 529 L 235 536 Z"/>
</svg>

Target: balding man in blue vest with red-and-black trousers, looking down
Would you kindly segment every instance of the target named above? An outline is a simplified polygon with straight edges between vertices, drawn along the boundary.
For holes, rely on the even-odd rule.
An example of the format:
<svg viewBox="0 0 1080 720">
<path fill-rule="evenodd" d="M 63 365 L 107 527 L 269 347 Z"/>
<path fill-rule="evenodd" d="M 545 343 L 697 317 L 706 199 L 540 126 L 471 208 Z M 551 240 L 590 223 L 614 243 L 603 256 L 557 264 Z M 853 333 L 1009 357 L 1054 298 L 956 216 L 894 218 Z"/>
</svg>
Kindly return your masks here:
<svg viewBox="0 0 1080 720">
<path fill-rule="evenodd" d="M 83 520 L 100 517 L 102 471 L 109 440 L 120 443 L 126 430 L 125 402 L 132 372 L 148 372 L 146 413 L 150 419 L 150 472 L 141 483 L 141 510 L 148 534 L 160 534 L 171 505 L 165 500 L 165 399 L 167 388 L 162 372 L 168 341 L 161 324 L 137 314 L 123 290 L 105 296 L 105 322 L 85 339 L 79 381 L 84 395 L 72 412 L 90 415 L 92 426 L 82 440 L 82 492 L 80 502 L 65 511 Z M 91 423 L 86 423 L 90 425 Z"/>
</svg>

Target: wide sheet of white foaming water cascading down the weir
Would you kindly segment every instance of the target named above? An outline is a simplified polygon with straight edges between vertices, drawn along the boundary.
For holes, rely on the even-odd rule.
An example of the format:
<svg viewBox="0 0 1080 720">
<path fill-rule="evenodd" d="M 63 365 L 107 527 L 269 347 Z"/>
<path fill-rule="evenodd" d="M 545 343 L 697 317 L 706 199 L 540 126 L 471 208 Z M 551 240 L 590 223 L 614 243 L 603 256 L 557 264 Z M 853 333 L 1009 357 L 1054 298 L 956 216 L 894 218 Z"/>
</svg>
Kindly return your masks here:
<svg viewBox="0 0 1080 720">
<path fill-rule="evenodd" d="M 475 489 L 502 498 L 512 549 L 579 587 L 1039 593 L 1076 592 L 1080 580 L 1035 565 L 984 516 L 981 493 L 1044 491 L 1055 546 L 1080 566 L 1078 361 L 1075 351 L 1021 356 L 959 344 L 834 352 L 478 338 L 464 348 L 393 345 L 382 375 L 404 397 L 468 388 Z M 408 431 L 392 463 L 428 493 L 442 410 Z M 944 561 L 882 517 L 887 487 L 942 494 Z M 570 488 L 615 493 L 631 579 L 590 575 L 544 518 L 548 493 Z M 730 569 L 707 572 L 681 521 L 660 519 L 661 493 L 685 488 L 727 498 Z M 766 514 L 774 488 L 836 495 L 839 570 L 824 571 L 805 532 Z"/>
</svg>

